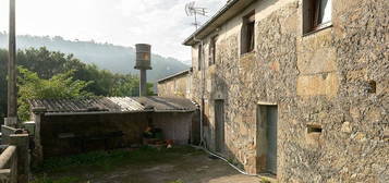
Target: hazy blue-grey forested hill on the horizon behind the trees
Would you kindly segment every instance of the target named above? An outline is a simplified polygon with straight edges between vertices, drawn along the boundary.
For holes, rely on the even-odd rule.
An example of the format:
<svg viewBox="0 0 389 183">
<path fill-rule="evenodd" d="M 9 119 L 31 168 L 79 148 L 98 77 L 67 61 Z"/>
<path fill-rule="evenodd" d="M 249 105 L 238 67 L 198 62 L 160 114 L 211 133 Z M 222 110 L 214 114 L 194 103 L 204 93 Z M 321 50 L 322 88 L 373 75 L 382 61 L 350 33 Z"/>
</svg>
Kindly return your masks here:
<svg viewBox="0 0 389 183">
<path fill-rule="evenodd" d="M 0 48 L 8 47 L 7 40 L 8 35 L 0 33 Z M 17 49 L 31 47 L 46 47 L 52 51 L 73 53 L 75 58 L 85 63 L 94 63 L 100 69 L 107 69 L 114 73 L 138 73 L 134 70 L 135 50 L 131 47 L 97 44 L 94 41 L 71 41 L 64 40 L 62 37 L 17 36 Z M 158 54 L 151 56 L 151 64 L 153 70 L 148 71 L 149 82 L 156 82 L 159 78 L 190 68 L 177 59 L 165 58 Z"/>
</svg>

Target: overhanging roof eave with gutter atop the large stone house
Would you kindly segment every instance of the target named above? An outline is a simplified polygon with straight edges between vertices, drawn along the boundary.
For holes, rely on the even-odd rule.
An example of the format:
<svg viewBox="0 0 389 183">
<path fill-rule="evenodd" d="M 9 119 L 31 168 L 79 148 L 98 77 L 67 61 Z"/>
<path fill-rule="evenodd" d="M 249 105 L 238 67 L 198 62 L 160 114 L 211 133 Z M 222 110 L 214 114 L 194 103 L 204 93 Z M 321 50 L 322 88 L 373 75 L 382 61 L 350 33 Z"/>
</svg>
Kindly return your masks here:
<svg viewBox="0 0 389 183">
<path fill-rule="evenodd" d="M 183 42 L 185 46 L 196 44 L 196 39 L 202 39 L 209 35 L 215 29 L 219 28 L 223 23 L 242 12 L 245 8 L 257 0 L 231 0 L 226 3 L 214 16 L 204 23 L 196 32 L 194 32 Z"/>
</svg>

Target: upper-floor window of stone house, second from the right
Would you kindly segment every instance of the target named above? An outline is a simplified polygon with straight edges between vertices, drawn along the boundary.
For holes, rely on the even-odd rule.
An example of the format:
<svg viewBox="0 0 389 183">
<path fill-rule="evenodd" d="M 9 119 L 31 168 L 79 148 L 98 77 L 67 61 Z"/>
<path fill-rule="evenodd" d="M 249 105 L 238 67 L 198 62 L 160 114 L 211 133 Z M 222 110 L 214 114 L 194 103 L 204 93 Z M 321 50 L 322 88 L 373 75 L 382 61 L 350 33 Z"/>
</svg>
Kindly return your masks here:
<svg viewBox="0 0 389 183">
<path fill-rule="evenodd" d="M 243 26 L 241 32 L 241 53 L 251 52 L 255 45 L 255 12 L 251 12 L 243 17 Z"/>
</svg>

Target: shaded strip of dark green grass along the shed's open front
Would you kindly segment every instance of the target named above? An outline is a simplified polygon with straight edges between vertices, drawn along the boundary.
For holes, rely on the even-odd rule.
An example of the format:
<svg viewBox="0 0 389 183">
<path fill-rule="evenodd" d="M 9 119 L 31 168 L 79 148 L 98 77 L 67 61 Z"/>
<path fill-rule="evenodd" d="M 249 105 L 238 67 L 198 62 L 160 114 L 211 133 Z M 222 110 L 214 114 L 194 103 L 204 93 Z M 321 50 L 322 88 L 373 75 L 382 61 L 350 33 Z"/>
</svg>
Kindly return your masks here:
<svg viewBox="0 0 389 183">
<path fill-rule="evenodd" d="M 181 157 L 184 154 L 200 154 L 190 146 L 175 146 L 171 149 L 162 148 L 160 150 L 150 147 L 141 147 L 138 149 L 118 149 L 112 151 L 95 151 L 69 157 L 50 158 L 40 166 L 33 169 L 37 179 L 33 183 L 75 183 L 85 182 L 85 173 L 104 174 L 108 171 L 114 171 L 123 166 L 154 164 L 159 162 L 169 162 Z M 74 175 L 74 172 L 75 175 Z M 66 176 L 71 174 L 71 176 Z M 75 178 L 73 178 L 73 175 Z M 53 179 L 59 178 L 59 179 Z M 177 180 L 169 183 L 183 183 Z"/>
</svg>

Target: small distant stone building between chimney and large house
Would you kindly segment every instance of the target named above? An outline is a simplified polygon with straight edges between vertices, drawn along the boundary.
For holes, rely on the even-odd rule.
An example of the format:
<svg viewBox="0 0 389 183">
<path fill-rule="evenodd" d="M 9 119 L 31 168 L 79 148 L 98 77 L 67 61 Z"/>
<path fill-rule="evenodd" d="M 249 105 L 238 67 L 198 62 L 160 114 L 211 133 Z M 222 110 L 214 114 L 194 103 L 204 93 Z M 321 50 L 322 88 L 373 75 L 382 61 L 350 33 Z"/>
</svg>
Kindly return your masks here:
<svg viewBox="0 0 389 183">
<path fill-rule="evenodd" d="M 158 96 L 192 98 L 192 68 L 157 82 Z"/>
</svg>

